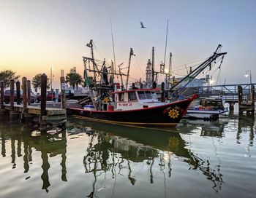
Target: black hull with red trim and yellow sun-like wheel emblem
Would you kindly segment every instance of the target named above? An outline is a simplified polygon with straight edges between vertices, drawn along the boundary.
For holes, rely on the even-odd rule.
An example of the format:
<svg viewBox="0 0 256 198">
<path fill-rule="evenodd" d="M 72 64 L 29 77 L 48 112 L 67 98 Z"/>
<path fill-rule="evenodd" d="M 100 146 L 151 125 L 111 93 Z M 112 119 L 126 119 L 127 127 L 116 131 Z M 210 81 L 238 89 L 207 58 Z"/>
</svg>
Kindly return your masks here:
<svg viewBox="0 0 256 198">
<path fill-rule="evenodd" d="M 88 119 L 110 124 L 159 125 L 175 127 L 187 112 L 197 95 L 151 108 L 125 111 L 90 111 L 82 108 L 68 108 L 68 113 L 79 119 Z"/>
</svg>

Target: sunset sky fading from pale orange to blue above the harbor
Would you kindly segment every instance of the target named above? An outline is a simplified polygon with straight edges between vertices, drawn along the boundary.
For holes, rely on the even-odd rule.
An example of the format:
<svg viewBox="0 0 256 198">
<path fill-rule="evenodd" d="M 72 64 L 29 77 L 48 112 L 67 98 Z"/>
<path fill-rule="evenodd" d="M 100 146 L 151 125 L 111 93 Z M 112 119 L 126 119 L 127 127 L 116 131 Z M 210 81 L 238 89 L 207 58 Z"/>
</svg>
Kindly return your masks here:
<svg viewBox="0 0 256 198">
<path fill-rule="evenodd" d="M 255 82 L 255 0 L 1 0 L 0 71 L 12 69 L 31 79 L 39 73 L 50 76 L 53 68 L 58 87 L 61 69 L 67 74 L 76 67 L 83 74 L 90 39 L 97 47 L 95 58 L 113 60 L 110 18 L 116 64 L 128 65 L 130 47 L 136 55 L 131 81 L 145 79 L 152 47 L 156 66 L 164 60 L 168 19 L 167 58 L 172 52 L 173 69 L 207 58 L 222 44 L 227 55 L 221 83 L 249 83 L 247 70 Z M 140 21 L 147 28 L 140 28 Z"/>
</svg>

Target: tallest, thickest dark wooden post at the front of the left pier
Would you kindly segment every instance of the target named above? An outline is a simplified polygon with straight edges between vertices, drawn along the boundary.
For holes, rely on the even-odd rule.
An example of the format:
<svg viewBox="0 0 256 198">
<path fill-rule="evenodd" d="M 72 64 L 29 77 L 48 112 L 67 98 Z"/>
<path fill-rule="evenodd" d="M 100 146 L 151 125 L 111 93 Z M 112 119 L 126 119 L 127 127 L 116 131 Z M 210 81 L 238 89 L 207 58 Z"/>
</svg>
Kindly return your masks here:
<svg viewBox="0 0 256 198">
<path fill-rule="evenodd" d="M 40 128 L 42 131 L 46 129 L 46 90 L 47 90 L 47 76 L 42 74 L 41 76 L 41 116 L 40 116 Z"/>
</svg>

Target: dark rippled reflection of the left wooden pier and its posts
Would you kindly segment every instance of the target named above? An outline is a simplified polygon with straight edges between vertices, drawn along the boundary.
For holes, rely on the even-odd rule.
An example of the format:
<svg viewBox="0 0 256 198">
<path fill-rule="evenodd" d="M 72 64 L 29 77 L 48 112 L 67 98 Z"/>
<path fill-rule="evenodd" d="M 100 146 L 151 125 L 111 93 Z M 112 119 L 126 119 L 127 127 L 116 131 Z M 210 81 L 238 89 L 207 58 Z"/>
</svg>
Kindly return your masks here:
<svg viewBox="0 0 256 198">
<path fill-rule="evenodd" d="M 8 125 L 8 124 L 7 124 Z M 66 152 L 67 152 L 67 139 L 65 132 L 61 135 L 41 134 L 37 136 L 31 135 L 31 129 L 27 126 L 21 126 L 16 123 L 9 123 L 7 127 L 0 127 L 1 132 L 1 155 L 6 157 L 6 141 L 10 140 L 11 143 L 11 163 L 12 168 L 16 167 L 16 157 L 23 156 L 24 173 L 29 173 L 29 162 L 32 162 L 32 148 L 36 151 L 41 151 L 42 158 L 42 189 L 48 192 L 50 186 L 48 170 L 50 163 L 49 157 L 61 155 L 61 180 L 67 181 L 67 168 L 66 168 Z M 23 143 L 22 143 L 23 142 Z M 16 153 L 17 146 L 17 153 Z M 23 149 L 22 149 L 23 146 Z M 23 150 L 23 155 L 22 155 Z M 29 178 L 26 178 L 29 179 Z"/>
</svg>

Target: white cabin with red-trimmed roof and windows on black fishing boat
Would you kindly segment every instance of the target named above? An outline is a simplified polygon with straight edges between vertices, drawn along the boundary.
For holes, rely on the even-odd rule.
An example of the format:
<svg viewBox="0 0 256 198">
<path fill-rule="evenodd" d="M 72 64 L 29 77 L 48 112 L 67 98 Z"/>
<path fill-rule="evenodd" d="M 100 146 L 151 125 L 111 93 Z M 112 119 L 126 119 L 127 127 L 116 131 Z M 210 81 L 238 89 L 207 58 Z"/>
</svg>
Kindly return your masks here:
<svg viewBox="0 0 256 198">
<path fill-rule="evenodd" d="M 150 108 L 163 105 L 157 96 L 158 89 L 136 89 L 113 92 L 115 94 L 115 111 Z"/>
</svg>

